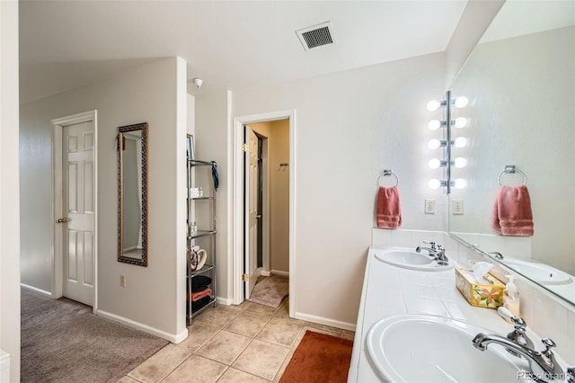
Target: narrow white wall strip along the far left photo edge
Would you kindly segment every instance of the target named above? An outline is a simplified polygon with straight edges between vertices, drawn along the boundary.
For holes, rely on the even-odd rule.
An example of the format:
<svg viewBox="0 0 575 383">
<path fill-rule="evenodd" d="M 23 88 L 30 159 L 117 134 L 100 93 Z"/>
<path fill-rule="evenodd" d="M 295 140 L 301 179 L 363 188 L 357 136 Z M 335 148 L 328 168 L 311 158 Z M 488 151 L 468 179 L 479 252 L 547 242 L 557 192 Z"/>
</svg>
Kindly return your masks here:
<svg viewBox="0 0 575 383">
<path fill-rule="evenodd" d="M 18 2 L 0 1 L 0 349 L 20 381 Z"/>
</svg>

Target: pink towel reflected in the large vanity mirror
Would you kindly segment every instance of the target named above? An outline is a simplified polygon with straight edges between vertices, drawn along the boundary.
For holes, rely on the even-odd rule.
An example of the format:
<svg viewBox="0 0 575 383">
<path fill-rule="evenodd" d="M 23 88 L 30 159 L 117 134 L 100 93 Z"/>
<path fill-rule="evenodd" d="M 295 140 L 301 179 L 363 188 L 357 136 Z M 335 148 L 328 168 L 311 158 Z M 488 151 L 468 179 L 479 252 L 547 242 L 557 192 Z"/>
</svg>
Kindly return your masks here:
<svg viewBox="0 0 575 383">
<path fill-rule="evenodd" d="M 491 226 L 503 236 L 533 236 L 531 198 L 526 185 L 501 186 Z"/>
</svg>

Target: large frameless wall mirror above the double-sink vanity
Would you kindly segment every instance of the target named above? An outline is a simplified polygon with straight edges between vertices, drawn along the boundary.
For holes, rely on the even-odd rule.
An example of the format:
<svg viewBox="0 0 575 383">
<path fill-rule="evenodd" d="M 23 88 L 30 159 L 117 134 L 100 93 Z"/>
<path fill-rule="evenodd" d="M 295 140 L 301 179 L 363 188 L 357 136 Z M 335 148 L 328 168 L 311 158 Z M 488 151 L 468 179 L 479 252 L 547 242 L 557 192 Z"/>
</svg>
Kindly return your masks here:
<svg viewBox="0 0 575 383">
<path fill-rule="evenodd" d="M 450 195 L 464 201 L 464 214 L 449 215 L 452 235 L 572 304 L 574 24 L 573 1 L 508 0 L 491 22 L 451 86 L 470 100 L 458 111 L 470 118 L 470 146 L 462 153 L 470 166 L 456 170 L 468 187 Z M 502 173 L 506 165 L 525 176 Z M 491 228 L 500 183 L 526 183 L 533 236 L 500 236 Z"/>
</svg>

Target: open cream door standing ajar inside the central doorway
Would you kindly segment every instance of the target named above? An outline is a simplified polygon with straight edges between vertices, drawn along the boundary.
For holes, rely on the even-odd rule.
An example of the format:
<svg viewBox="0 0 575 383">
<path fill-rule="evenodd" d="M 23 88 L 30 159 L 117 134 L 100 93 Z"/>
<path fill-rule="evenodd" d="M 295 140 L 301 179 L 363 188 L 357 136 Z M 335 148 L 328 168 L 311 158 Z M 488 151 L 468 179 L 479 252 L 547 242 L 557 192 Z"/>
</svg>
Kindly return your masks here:
<svg viewBox="0 0 575 383">
<path fill-rule="evenodd" d="M 246 235 L 245 235 L 245 298 L 250 298 L 255 282 L 260 276 L 258 267 L 258 137 L 252 129 L 247 129 L 247 158 L 245 171 L 246 186 Z"/>
</svg>

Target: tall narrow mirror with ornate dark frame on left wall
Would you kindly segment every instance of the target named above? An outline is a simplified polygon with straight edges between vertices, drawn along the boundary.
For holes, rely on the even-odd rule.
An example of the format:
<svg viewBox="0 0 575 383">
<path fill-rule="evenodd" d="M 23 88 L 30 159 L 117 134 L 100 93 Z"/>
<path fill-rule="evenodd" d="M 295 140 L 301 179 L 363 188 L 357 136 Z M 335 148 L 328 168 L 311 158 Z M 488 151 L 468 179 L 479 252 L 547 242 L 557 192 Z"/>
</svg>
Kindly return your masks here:
<svg viewBox="0 0 575 383">
<path fill-rule="evenodd" d="M 147 266 L 147 123 L 118 128 L 118 261 Z"/>
</svg>

